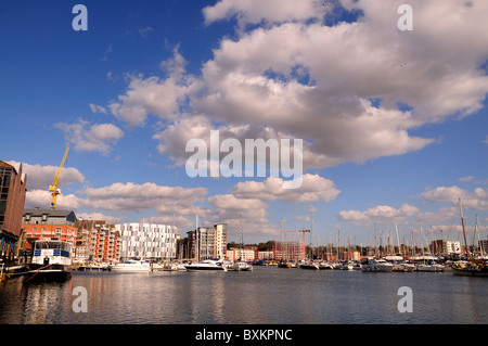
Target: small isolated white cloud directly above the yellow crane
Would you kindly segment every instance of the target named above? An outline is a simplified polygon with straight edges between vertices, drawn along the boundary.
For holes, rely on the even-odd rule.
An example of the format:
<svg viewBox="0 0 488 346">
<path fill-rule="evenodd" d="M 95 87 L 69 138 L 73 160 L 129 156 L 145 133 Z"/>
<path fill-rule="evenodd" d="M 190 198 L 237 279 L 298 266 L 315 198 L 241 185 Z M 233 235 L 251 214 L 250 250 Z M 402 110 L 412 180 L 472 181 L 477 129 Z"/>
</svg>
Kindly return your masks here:
<svg viewBox="0 0 488 346">
<path fill-rule="evenodd" d="M 64 132 L 66 141 L 80 152 L 101 152 L 106 155 L 111 145 L 124 137 L 124 131 L 113 124 L 94 124 L 79 119 L 78 123 L 56 123 L 54 127 Z"/>
</svg>

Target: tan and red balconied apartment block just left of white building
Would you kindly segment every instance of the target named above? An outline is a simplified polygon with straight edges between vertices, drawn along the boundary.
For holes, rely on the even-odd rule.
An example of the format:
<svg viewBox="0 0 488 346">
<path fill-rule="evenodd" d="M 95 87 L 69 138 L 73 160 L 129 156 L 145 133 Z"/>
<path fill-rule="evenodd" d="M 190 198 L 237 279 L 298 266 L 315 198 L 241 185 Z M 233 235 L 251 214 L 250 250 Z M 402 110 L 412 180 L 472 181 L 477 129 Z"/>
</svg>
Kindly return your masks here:
<svg viewBox="0 0 488 346">
<path fill-rule="evenodd" d="M 107 225 L 104 220 L 78 221 L 76 262 L 118 262 L 120 246 L 120 232 L 115 229 L 115 225 Z"/>
</svg>

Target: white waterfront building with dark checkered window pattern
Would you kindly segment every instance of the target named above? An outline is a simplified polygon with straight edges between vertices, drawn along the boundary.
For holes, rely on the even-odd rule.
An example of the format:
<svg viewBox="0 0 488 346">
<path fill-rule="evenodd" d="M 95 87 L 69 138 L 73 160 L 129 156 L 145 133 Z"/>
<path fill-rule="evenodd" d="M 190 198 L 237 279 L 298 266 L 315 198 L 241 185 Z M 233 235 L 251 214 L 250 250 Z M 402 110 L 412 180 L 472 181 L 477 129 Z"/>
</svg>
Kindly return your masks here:
<svg viewBox="0 0 488 346">
<path fill-rule="evenodd" d="M 120 259 L 144 258 L 165 260 L 176 258 L 177 227 L 169 225 L 129 222 L 119 223 Z"/>
</svg>

